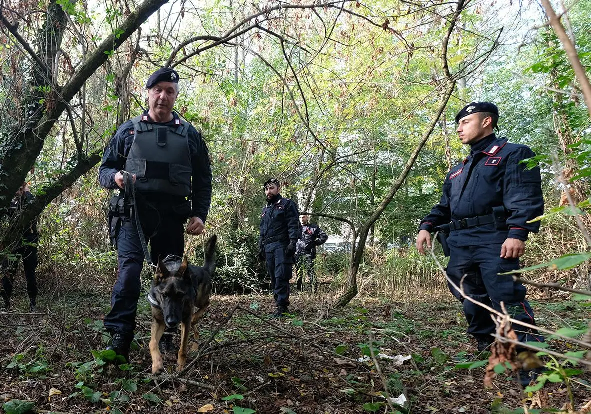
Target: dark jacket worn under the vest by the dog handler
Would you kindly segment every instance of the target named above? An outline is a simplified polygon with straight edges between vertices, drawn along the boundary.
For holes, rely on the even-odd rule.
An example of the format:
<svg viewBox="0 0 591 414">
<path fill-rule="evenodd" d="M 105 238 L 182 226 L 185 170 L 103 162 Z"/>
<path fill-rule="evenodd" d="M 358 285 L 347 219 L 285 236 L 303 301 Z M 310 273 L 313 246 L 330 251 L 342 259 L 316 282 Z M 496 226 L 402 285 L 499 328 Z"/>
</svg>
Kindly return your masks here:
<svg viewBox="0 0 591 414">
<path fill-rule="evenodd" d="M 178 122 L 186 122 L 180 120 L 176 112 L 173 112 L 173 119 L 170 122 L 152 122 L 148 116 L 148 111 L 145 111 L 142 115 L 147 117 L 147 122 L 155 125 L 178 125 Z M 131 119 L 122 124 L 113 134 L 111 142 L 105 148 L 102 163 L 99 167 L 99 182 L 103 187 L 108 189 L 119 188 L 115 183 L 115 173 L 124 168 L 135 135 L 134 124 Z M 200 132 L 190 124 L 187 141 L 192 169 L 189 216 L 199 217 L 205 222 L 212 199 L 212 170 L 209 164 L 209 155 Z M 181 196 L 164 195 L 162 193 L 142 192 L 142 196 L 148 202 L 157 204 L 159 209 L 163 204 L 170 206 L 183 205 L 185 200 Z"/>
</svg>

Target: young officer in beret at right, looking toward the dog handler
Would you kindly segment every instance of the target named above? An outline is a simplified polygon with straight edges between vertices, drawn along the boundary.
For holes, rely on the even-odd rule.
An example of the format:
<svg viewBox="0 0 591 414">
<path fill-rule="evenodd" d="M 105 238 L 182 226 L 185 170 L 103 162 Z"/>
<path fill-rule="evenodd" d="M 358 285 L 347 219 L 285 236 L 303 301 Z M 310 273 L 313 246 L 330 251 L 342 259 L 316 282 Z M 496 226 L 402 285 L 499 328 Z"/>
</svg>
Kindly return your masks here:
<svg viewBox="0 0 591 414">
<path fill-rule="evenodd" d="M 535 325 L 525 287 L 498 273 L 519 269 L 528 234 L 540 228 L 540 222 L 528 223 L 544 212 L 540 169 L 520 163 L 535 155 L 527 145 L 495 136 L 498 118 L 498 108 L 489 102 L 472 102 L 457 114 L 457 132 L 470 145 L 470 155 L 447 174 L 439 204 L 421 221 L 417 248 L 424 254 L 424 244 L 431 246 L 430 233 L 441 226 L 449 232 L 450 279 L 460 286 L 467 274 L 466 295 L 499 311 L 504 302 L 514 319 Z M 478 350 L 485 350 L 494 340 L 491 315 L 450 290 L 463 302 L 468 333 L 478 341 Z M 513 328 L 519 341 L 544 341 L 537 331 Z M 529 383 L 529 374 L 522 373 L 523 384 Z"/>
</svg>

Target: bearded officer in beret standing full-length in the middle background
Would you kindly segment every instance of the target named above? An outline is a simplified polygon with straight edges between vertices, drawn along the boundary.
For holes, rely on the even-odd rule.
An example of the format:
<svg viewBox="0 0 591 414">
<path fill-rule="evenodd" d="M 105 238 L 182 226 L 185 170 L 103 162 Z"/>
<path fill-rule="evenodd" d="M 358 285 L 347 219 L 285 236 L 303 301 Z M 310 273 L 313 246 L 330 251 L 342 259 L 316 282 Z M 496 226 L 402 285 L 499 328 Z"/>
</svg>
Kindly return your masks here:
<svg viewBox="0 0 591 414">
<path fill-rule="evenodd" d="M 297 206 L 279 193 L 279 180 L 270 178 L 264 184 L 267 204 L 262 208 L 259 229 L 259 258 L 267 262 L 277 310 L 275 318 L 288 312 L 290 279 L 296 242 L 300 238 Z"/>
</svg>

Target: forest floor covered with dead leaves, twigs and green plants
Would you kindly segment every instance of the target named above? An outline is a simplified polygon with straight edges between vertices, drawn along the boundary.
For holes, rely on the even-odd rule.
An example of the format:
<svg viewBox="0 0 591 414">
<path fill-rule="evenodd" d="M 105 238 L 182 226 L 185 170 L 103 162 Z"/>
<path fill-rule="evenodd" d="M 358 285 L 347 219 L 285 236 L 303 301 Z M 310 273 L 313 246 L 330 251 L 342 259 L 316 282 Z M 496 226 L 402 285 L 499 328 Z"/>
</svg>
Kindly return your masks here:
<svg viewBox="0 0 591 414">
<path fill-rule="evenodd" d="M 293 316 L 269 319 L 271 296 L 214 295 L 200 321 L 199 353 L 180 376 L 170 375 L 176 356 L 167 355 L 169 374 L 157 378 L 143 298 L 131 363 L 116 367 L 100 352 L 108 294 L 41 296 L 34 314 L 17 297 L 12 310 L 0 312 L 0 404 L 25 412 L 14 400 L 27 401 L 44 413 L 540 413 L 591 400 L 591 374 L 574 370 L 567 383 L 548 381 L 539 392 L 525 393 L 511 373 L 485 389 L 485 366 L 457 367 L 478 357 L 450 296 L 429 303 L 358 298 L 329 312 L 334 297 L 322 289 L 293 295 Z M 538 324 L 555 330 L 586 328 L 589 308 L 582 305 L 532 302 Z M 548 342 L 555 351 L 577 351 Z M 404 406 L 385 405 L 385 387 L 398 402 L 404 394 Z"/>
</svg>

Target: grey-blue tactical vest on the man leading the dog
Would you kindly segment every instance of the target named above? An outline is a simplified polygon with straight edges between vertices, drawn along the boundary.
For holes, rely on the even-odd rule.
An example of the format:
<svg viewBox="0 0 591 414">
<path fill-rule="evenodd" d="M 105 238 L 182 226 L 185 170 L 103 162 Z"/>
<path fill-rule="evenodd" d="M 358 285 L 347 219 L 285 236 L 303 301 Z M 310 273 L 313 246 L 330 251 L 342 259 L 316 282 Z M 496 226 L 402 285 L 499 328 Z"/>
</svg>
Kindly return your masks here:
<svg viewBox="0 0 591 414">
<path fill-rule="evenodd" d="M 159 192 L 186 197 L 191 193 L 189 124 L 176 118 L 171 125 L 157 125 L 147 115 L 132 118 L 134 141 L 125 170 L 135 174 L 139 192 Z"/>
</svg>

